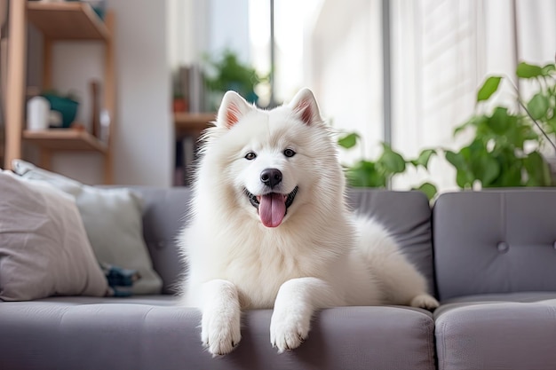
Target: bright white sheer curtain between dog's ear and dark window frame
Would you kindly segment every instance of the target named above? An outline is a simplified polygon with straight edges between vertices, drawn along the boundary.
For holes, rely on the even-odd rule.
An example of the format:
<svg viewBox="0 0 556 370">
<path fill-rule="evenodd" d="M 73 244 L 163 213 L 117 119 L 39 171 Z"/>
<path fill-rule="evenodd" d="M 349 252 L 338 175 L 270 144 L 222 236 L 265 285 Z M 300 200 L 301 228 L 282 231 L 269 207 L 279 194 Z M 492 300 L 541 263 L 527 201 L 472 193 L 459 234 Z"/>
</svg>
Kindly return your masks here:
<svg viewBox="0 0 556 370">
<path fill-rule="evenodd" d="M 381 0 L 322 1 L 308 34 L 307 85 L 323 115 L 363 145 L 342 151 L 348 163 L 377 155 L 384 137 Z"/>
</svg>

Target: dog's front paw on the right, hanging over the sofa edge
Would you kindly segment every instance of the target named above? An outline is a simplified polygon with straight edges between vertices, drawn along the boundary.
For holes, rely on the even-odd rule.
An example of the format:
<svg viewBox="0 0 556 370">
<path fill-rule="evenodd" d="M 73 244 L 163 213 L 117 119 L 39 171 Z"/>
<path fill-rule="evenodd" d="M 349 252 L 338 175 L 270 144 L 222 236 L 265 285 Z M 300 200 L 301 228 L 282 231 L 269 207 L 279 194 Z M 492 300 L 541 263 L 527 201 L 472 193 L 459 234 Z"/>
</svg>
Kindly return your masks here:
<svg viewBox="0 0 556 370">
<path fill-rule="evenodd" d="M 293 350 L 309 335 L 311 318 L 291 311 L 274 311 L 270 321 L 270 342 L 278 353 Z"/>
</svg>

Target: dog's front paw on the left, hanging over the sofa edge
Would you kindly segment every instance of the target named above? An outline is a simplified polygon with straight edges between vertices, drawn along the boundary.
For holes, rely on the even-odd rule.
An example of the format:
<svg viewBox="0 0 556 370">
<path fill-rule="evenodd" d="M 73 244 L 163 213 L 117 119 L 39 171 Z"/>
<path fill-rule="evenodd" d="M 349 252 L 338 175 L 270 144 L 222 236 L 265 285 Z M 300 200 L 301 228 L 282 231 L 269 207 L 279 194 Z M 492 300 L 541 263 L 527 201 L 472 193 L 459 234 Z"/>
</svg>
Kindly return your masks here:
<svg viewBox="0 0 556 370">
<path fill-rule="evenodd" d="M 230 353 L 242 339 L 239 312 L 204 312 L 203 346 L 213 357 Z"/>
</svg>

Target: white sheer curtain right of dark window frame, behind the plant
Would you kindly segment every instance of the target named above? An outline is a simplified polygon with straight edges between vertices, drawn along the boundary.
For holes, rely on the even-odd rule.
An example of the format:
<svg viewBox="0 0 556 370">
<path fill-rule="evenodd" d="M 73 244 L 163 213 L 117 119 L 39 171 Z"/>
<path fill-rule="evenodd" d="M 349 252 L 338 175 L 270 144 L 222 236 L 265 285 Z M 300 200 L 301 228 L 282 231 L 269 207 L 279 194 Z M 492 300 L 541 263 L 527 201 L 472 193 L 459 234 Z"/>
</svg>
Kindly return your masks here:
<svg viewBox="0 0 556 370">
<path fill-rule="evenodd" d="M 452 132 L 473 114 L 477 88 L 487 75 L 512 76 L 519 61 L 554 60 L 552 0 L 393 0 L 391 9 L 393 146 L 409 157 L 467 141 Z M 496 98 L 512 105 L 506 87 Z M 394 188 L 424 178 L 441 190 L 457 187 L 455 171 L 445 161 L 435 159 L 429 172 L 398 177 Z"/>
</svg>

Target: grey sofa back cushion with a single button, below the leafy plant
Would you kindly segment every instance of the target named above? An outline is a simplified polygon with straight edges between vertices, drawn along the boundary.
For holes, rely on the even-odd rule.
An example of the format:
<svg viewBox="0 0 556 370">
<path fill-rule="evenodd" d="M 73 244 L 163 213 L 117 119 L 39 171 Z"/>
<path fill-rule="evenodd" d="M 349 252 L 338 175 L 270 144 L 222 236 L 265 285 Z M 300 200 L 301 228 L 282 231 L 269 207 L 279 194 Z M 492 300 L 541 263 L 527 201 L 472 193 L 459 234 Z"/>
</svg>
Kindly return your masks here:
<svg viewBox="0 0 556 370">
<path fill-rule="evenodd" d="M 433 247 L 441 300 L 556 290 L 556 190 L 443 193 Z"/>
</svg>

